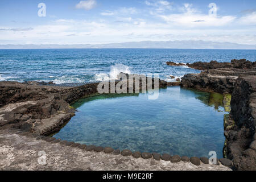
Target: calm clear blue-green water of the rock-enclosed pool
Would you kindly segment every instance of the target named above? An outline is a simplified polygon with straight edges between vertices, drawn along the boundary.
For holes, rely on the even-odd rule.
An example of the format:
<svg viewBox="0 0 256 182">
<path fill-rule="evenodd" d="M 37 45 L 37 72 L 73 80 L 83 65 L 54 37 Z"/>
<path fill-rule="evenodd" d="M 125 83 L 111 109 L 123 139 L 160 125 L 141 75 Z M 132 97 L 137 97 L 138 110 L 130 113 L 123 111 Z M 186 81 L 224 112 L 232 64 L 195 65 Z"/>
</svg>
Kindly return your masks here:
<svg viewBox="0 0 256 182">
<path fill-rule="evenodd" d="M 180 156 L 201 157 L 216 151 L 222 158 L 223 118 L 229 111 L 223 98 L 179 86 L 160 89 L 157 100 L 148 100 L 147 93 L 83 98 L 72 105 L 76 115 L 54 137 Z"/>
</svg>

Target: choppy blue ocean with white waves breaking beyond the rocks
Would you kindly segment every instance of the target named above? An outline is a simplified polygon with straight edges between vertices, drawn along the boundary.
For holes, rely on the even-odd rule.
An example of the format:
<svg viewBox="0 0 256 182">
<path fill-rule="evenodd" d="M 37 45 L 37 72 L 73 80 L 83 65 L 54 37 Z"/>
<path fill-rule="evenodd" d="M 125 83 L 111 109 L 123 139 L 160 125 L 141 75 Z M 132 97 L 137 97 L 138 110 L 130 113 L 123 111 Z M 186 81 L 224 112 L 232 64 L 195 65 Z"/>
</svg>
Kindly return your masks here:
<svg viewBox="0 0 256 182">
<path fill-rule="evenodd" d="M 170 67 L 167 61 L 194 63 L 232 59 L 255 61 L 256 50 L 0 49 L 0 81 L 95 82 L 108 80 L 119 72 L 158 73 L 162 80 L 175 81 L 187 73 L 200 71 L 185 66 Z"/>
</svg>

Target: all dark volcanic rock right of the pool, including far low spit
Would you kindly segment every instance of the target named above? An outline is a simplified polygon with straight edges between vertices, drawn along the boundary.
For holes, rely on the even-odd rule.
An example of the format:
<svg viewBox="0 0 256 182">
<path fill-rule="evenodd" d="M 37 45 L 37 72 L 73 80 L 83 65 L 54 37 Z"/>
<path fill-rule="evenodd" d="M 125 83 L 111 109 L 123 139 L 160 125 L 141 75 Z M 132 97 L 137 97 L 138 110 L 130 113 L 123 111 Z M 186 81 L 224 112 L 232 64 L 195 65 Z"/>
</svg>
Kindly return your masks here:
<svg viewBox="0 0 256 182">
<path fill-rule="evenodd" d="M 167 65 L 180 64 L 167 62 Z M 256 62 L 242 59 L 187 66 L 204 71 L 185 75 L 181 86 L 232 94 L 230 114 L 224 117 L 224 156 L 232 160 L 234 169 L 256 170 Z"/>
</svg>

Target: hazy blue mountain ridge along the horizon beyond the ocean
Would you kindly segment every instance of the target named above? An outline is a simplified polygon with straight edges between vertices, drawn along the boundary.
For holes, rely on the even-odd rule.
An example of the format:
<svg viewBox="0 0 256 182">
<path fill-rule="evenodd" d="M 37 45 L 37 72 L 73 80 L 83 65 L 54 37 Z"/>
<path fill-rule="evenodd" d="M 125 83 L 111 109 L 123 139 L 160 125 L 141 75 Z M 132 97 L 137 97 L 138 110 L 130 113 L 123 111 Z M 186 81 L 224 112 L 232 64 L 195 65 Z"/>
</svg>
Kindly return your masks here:
<svg viewBox="0 0 256 182">
<path fill-rule="evenodd" d="M 171 48 L 171 49 L 256 49 L 256 45 L 203 40 L 142 41 L 109 44 L 6 44 L 0 49 L 46 49 L 46 48 Z"/>
</svg>

